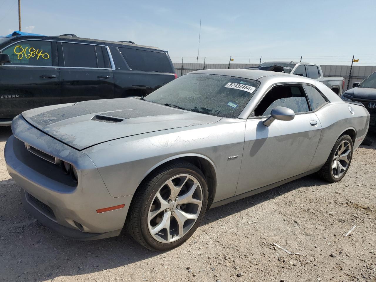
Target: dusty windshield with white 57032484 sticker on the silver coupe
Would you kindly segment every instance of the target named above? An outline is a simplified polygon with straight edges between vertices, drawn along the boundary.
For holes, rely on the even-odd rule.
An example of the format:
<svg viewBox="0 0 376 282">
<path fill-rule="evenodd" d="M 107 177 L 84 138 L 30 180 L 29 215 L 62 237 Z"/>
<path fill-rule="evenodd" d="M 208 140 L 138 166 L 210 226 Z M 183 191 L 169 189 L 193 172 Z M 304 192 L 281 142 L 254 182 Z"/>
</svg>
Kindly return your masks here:
<svg viewBox="0 0 376 282">
<path fill-rule="evenodd" d="M 237 118 L 260 83 L 214 74 L 185 74 L 145 100 L 217 117 Z"/>
</svg>

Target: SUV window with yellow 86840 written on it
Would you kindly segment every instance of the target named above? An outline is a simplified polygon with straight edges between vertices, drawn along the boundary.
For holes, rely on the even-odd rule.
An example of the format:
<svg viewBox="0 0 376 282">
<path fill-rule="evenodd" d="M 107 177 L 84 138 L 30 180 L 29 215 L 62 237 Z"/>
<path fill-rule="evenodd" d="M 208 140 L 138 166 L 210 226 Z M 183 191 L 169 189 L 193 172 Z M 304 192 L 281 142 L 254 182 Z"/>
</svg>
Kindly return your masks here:
<svg viewBox="0 0 376 282">
<path fill-rule="evenodd" d="M 9 65 L 52 66 L 51 41 L 21 41 L 7 47 L 2 53 L 11 58 Z"/>
</svg>

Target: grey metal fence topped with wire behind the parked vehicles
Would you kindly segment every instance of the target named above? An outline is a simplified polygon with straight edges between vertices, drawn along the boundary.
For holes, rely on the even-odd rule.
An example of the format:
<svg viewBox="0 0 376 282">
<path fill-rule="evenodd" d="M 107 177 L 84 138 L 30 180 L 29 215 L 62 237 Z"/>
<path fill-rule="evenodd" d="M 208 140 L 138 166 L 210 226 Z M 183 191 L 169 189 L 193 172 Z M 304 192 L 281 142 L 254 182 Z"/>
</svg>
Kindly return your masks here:
<svg viewBox="0 0 376 282">
<path fill-rule="evenodd" d="M 190 73 L 195 70 L 203 69 L 223 69 L 223 68 L 243 68 L 243 67 L 256 67 L 259 64 L 196 64 L 196 63 L 173 63 L 177 76 Z M 352 66 L 350 75 L 349 65 L 321 65 L 324 76 L 342 76 L 345 79 L 345 88 L 347 90 L 347 83 L 350 77 L 349 88 L 352 88 L 352 83 L 361 82 L 371 73 L 376 71 L 376 66 Z"/>
</svg>

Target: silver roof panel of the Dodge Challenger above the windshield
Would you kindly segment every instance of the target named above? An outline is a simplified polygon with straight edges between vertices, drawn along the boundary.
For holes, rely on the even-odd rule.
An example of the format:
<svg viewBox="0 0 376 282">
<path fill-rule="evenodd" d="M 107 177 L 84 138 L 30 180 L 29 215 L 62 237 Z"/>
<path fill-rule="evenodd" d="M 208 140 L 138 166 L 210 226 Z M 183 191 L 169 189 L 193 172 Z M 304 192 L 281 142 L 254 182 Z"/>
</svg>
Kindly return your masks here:
<svg viewBox="0 0 376 282">
<path fill-rule="evenodd" d="M 192 71 L 188 74 L 193 73 L 202 73 L 202 74 L 217 74 L 223 76 L 235 76 L 235 77 L 242 77 L 246 79 L 253 79 L 258 80 L 261 77 L 265 76 L 292 76 L 297 77 L 294 74 L 289 73 L 278 73 L 275 71 L 263 71 L 263 70 L 242 70 L 242 69 L 213 69 L 213 70 L 199 70 L 199 71 Z M 299 76 L 300 77 L 300 76 Z"/>
</svg>

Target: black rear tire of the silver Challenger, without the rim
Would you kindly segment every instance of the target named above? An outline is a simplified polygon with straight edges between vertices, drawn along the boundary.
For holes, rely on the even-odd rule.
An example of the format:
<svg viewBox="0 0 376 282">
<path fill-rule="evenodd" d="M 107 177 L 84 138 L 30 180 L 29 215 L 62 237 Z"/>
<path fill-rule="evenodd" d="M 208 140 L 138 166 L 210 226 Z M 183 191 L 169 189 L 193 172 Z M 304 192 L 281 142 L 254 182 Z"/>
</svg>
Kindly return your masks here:
<svg viewBox="0 0 376 282">
<path fill-rule="evenodd" d="M 334 174 L 333 174 L 333 170 L 332 170 L 333 157 L 334 157 L 334 155 L 335 155 L 335 153 L 338 149 L 338 146 L 340 146 L 340 144 L 345 140 L 350 143 L 350 147 L 351 147 L 350 161 L 349 161 L 349 164 L 347 165 L 347 168 L 344 171 L 344 173 L 340 177 L 335 177 Z M 351 164 L 351 161 L 352 161 L 352 154 L 353 154 L 353 142 L 352 142 L 351 137 L 349 135 L 340 136 L 340 138 L 338 138 L 337 141 L 335 142 L 333 149 L 332 149 L 331 153 L 329 154 L 328 159 L 326 160 L 325 164 L 323 165 L 323 167 L 319 171 L 320 177 L 323 178 L 324 180 L 328 181 L 328 182 L 331 182 L 331 183 L 340 181 L 346 175 L 347 171 L 349 170 L 349 167 L 350 167 L 350 164 Z"/>
</svg>

